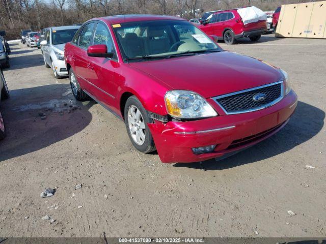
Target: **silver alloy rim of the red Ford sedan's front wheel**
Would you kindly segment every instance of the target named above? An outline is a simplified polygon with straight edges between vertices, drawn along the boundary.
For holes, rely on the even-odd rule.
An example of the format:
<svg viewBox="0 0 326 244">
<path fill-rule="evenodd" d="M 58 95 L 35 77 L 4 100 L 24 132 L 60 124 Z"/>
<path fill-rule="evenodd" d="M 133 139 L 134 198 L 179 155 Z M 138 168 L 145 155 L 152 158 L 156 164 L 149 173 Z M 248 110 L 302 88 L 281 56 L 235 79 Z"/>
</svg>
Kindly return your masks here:
<svg viewBox="0 0 326 244">
<path fill-rule="evenodd" d="M 134 105 L 128 108 L 128 127 L 132 140 L 143 145 L 146 139 L 145 122 L 141 111 Z"/>
</svg>

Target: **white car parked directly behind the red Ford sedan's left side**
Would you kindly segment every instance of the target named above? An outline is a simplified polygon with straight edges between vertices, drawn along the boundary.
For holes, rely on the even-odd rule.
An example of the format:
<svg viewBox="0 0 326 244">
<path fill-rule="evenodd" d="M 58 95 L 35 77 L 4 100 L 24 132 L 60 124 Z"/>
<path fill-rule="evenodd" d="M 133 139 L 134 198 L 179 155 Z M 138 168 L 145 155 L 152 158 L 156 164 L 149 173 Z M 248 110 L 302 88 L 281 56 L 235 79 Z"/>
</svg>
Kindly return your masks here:
<svg viewBox="0 0 326 244">
<path fill-rule="evenodd" d="M 45 30 L 45 40 L 41 41 L 41 49 L 46 68 L 52 68 L 53 75 L 59 79 L 67 76 L 64 61 L 64 47 L 70 42 L 80 26 L 68 25 L 50 27 Z"/>
</svg>

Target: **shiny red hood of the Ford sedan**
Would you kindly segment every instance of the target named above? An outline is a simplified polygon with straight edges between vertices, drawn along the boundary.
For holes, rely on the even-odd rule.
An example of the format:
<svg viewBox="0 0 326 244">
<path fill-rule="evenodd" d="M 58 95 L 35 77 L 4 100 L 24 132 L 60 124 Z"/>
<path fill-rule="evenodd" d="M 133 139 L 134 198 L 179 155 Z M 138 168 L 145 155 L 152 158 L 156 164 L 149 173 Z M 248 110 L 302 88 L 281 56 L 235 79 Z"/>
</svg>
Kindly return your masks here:
<svg viewBox="0 0 326 244">
<path fill-rule="evenodd" d="M 173 89 L 192 90 L 205 98 L 283 79 L 277 68 L 229 51 L 130 63 L 130 66 Z"/>
</svg>

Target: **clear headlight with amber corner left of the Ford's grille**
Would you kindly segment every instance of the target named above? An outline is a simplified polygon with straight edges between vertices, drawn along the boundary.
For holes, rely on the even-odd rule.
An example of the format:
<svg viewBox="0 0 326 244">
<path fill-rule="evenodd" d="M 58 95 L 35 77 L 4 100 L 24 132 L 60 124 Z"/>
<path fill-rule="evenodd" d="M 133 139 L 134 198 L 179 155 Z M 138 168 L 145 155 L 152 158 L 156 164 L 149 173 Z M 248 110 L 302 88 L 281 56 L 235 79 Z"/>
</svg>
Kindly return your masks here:
<svg viewBox="0 0 326 244">
<path fill-rule="evenodd" d="M 165 95 L 168 113 L 175 118 L 204 118 L 218 115 L 197 93 L 189 90 L 170 90 Z"/>
</svg>

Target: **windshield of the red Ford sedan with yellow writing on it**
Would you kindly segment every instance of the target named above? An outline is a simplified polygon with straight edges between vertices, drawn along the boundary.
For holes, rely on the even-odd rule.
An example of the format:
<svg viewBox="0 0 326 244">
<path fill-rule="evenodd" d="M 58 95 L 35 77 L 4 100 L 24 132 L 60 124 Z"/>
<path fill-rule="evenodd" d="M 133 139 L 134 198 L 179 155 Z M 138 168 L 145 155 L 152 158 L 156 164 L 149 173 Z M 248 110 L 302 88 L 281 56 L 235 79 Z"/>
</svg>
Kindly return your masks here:
<svg viewBox="0 0 326 244">
<path fill-rule="evenodd" d="M 181 20 L 155 20 L 114 24 L 123 58 L 130 62 L 222 51 L 196 26 Z"/>
</svg>

